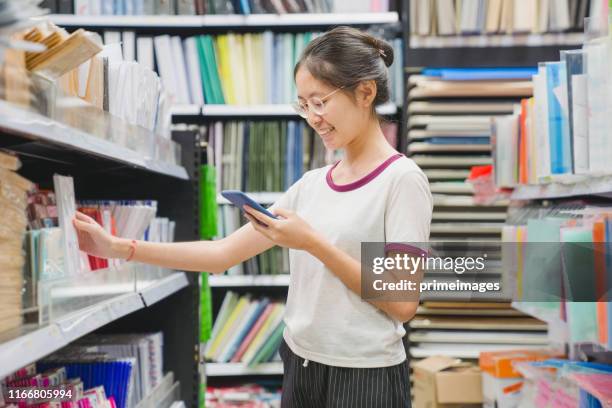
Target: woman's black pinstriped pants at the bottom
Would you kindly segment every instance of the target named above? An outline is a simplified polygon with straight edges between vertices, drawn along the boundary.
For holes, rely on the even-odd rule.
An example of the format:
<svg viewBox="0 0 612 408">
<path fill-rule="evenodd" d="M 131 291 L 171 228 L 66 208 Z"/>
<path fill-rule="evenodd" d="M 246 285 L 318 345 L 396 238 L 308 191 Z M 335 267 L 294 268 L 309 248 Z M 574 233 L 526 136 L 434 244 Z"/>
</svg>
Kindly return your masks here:
<svg viewBox="0 0 612 408">
<path fill-rule="evenodd" d="M 306 362 L 283 340 L 282 408 L 410 408 L 408 363 L 383 368 Z"/>
</svg>

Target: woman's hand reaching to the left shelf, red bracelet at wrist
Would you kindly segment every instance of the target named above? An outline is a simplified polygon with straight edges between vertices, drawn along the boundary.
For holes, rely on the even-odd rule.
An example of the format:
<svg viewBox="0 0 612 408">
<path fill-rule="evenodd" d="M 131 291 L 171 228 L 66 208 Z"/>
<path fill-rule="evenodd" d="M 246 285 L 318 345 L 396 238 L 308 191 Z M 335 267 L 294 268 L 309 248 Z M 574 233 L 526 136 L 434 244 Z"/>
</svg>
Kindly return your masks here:
<svg viewBox="0 0 612 408">
<path fill-rule="evenodd" d="M 76 212 L 72 220 L 79 239 L 81 251 L 100 258 L 125 258 L 127 253 L 120 250 L 120 238 L 114 237 L 93 218 Z"/>
</svg>

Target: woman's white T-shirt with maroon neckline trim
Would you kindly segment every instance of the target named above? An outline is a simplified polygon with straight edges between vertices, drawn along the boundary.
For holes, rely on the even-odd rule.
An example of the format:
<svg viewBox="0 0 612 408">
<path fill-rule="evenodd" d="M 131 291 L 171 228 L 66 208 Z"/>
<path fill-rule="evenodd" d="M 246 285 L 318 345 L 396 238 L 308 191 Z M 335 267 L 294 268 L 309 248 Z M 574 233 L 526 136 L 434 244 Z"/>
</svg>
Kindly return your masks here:
<svg viewBox="0 0 612 408">
<path fill-rule="evenodd" d="M 361 242 L 427 242 L 433 200 L 425 174 L 398 154 L 362 179 L 334 184 L 334 166 L 303 175 L 272 206 L 297 213 L 332 245 L 361 260 Z M 388 367 L 406 359 L 402 323 L 352 292 L 306 251 L 289 250 L 287 345 L 337 367 Z"/>
</svg>

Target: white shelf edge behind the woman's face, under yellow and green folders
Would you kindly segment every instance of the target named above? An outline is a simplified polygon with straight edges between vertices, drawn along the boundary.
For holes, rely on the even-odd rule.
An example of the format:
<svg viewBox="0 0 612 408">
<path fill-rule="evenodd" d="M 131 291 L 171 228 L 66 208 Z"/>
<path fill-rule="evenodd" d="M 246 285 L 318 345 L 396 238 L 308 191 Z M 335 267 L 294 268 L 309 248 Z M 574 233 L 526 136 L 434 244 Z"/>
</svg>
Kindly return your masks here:
<svg viewBox="0 0 612 408">
<path fill-rule="evenodd" d="M 393 103 L 376 108 L 379 115 L 395 115 L 397 106 Z M 205 117 L 266 117 L 282 116 L 297 118 L 298 115 L 289 104 L 278 105 L 204 105 L 202 115 Z"/>
</svg>

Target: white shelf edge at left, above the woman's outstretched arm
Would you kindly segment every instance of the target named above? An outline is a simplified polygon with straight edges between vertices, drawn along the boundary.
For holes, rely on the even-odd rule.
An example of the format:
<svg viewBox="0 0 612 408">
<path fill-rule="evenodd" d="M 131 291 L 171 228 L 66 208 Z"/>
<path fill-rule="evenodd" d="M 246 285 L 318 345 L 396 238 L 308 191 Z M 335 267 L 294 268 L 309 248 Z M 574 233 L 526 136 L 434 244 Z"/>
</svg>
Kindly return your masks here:
<svg viewBox="0 0 612 408">
<path fill-rule="evenodd" d="M 185 168 L 147 160 L 141 153 L 69 127 L 48 117 L 0 101 L 0 134 L 11 134 L 56 147 L 101 157 L 115 163 L 187 180 Z M 9 146 L 10 147 L 10 146 Z"/>
</svg>

